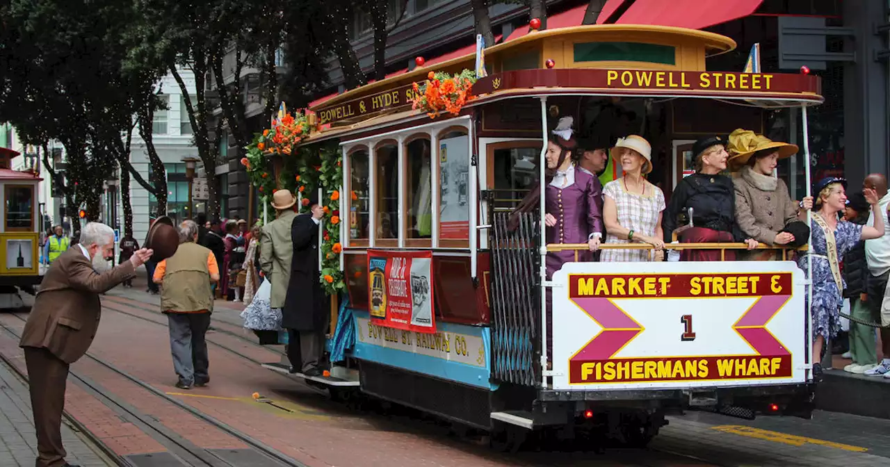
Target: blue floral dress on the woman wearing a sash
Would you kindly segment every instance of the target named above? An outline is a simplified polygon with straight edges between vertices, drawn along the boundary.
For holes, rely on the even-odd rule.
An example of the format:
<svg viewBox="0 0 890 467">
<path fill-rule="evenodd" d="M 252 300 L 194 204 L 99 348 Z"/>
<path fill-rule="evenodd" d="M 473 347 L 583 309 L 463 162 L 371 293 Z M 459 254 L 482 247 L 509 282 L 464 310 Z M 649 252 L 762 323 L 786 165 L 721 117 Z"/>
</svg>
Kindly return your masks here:
<svg viewBox="0 0 890 467">
<path fill-rule="evenodd" d="M 819 214 L 813 214 L 819 215 Z M 813 232 L 813 341 L 818 336 L 826 340 L 835 337 L 840 331 L 837 312 L 844 304 L 843 290 L 837 290 L 837 283 L 831 274 L 828 259 L 828 242 L 825 231 L 816 221 L 811 221 Z M 848 221 L 838 221 L 834 232 L 837 248 L 838 267 L 844 262 L 844 255 L 859 243 L 862 238 L 862 226 Z M 806 254 L 797 258 L 797 266 L 806 274 Z M 846 287 L 843 275 L 841 286 Z"/>
</svg>

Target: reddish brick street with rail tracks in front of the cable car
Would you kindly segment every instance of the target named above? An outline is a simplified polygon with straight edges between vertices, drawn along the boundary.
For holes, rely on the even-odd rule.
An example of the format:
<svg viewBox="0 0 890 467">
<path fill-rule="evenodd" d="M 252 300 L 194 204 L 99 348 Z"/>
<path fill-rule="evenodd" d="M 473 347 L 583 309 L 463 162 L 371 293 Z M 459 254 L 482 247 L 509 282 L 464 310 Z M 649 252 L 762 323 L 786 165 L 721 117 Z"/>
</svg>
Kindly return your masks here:
<svg viewBox="0 0 890 467">
<path fill-rule="evenodd" d="M 670 424 L 648 449 L 610 448 L 597 455 L 545 447 L 539 452 L 523 450 L 502 455 L 483 446 L 482 439 L 450 435 L 447 423 L 415 411 L 379 403 L 360 409 L 346 407 L 301 382 L 263 369 L 258 362 L 279 361 L 280 348 L 248 342 L 255 342 L 255 337 L 241 327 L 239 311 L 243 304 L 232 302 L 217 302 L 212 325 L 215 331 L 208 333 L 212 342 L 210 385 L 192 391 L 177 390 L 173 386 L 176 378 L 166 317 L 158 312 L 158 302 L 158 296 L 142 292 L 138 282 L 133 289 L 110 291 L 103 298 L 101 326 L 90 353 L 305 465 L 858 467 L 890 463 L 890 421 L 826 412 L 817 412 L 809 421 L 761 417 L 750 422 L 692 412 L 670 417 Z M 25 314 L 19 316 L 27 318 Z M 12 314 L 0 315 L 0 322 L 16 333 L 23 326 Z M 20 350 L 9 336 L 0 338 L 0 351 L 20 358 Z M 231 434 L 183 412 L 89 358 L 74 364 L 72 371 L 96 382 L 102 391 L 127 401 L 139 413 L 157 420 L 195 447 L 214 452 L 247 448 Z M 256 402 L 251 398 L 254 392 L 274 405 Z M 158 439 L 157 433 L 138 423 L 122 421 L 106 406 L 80 385 L 69 383 L 69 413 L 117 454 L 160 455 L 170 451 L 169 442 Z M 117 423 L 112 421 L 114 418 Z"/>
</svg>

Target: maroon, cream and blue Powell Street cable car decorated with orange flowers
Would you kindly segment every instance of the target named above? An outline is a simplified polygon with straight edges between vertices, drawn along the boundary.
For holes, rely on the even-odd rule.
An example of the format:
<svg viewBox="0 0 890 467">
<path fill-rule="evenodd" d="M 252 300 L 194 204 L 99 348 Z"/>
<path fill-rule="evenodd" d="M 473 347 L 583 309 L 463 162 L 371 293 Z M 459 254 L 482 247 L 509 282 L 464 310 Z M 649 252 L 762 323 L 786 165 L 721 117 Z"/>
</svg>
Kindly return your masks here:
<svg viewBox="0 0 890 467">
<path fill-rule="evenodd" d="M 341 264 L 356 339 L 347 352 L 348 368 L 337 366 L 336 378 L 313 383 L 336 380 L 337 391 L 358 386 L 375 397 L 498 436 L 602 422 L 645 444 L 669 409 L 809 416 L 812 362 L 805 336 L 810 315 L 803 305 L 805 278 L 794 262 L 568 262 L 548 280 L 547 252 L 586 245 L 542 247 L 540 213 L 524 216 L 518 230 L 506 228 L 507 215 L 532 178 L 543 177 L 542 142 L 556 118 L 572 115 L 578 125 L 590 101 L 603 101 L 606 107 L 616 101 L 642 103 L 644 119 L 670 116 L 667 126 L 674 130 L 668 133 L 682 133 L 676 129 L 683 116 L 675 112 L 680 103 L 690 102 L 705 112 L 716 111 L 712 105 L 739 104 L 732 109 L 761 122 L 763 109 L 801 108 L 805 127 L 806 107 L 822 101 L 819 78 L 705 67 L 707 56 L 734 47 L 728 37 L 684 28 L 547 30 L 486 49 L 489 76 L 473 85 L 477 98 L 457 115 L 431 119 L 412 110 L 407 98 L 412 85 L 422 83 L 431 70 L 473 69 L 472 54 L 362 86 L 312 109 L 325 126 L 304 144 L 338 141 L 344 155 L 341 192 L 357 194 L 357 201 L 340 197 L 341 212 L 351 214 L 344 216 L 351 221 L 341 224 Z M 553 69 L 546 68 L 547 60 L 554 60 Z M 628 133 L 639 132 L 619 135 Z M 653 155 L 666 146 L 654 142 Z M 429 173 L 413 177 L 426 170 L 423 157 L 433 162 Z M 669 170 L 676 182 L 686 167 L 680 160 Z M 466 179 L 459 175 L 464 172 Z M 421 232 L 418 219 L 426 213 L 417 212 L 417 193 L 423 192 L 414 179 L 427 176 L 432 229 Z M 666 195 L 672 190 L 664 187 Z M 381 229 L 384 224 L 390 227 Z M 368 274 L 369 255 L 381 250 L 396 256 L 432 253 L 434 329 L 392 328 L 381 324 L 383 314 L 369 314 L 369 303 L 375 310 L 385 308 L 380 284 L 385 280 L 379 273 Z M 722 293 L 714 289 L 696 296 L 698 289 L 680 284 L 689 271 L 701 280 L 708 277 L 709 284 L 716 284 L 718 276 L 726 278 L 720 282 L 724 286 L 736 278 L 734 292 L 724 287 Z M 616 275 L 627 276 L 625 288 L 597 282 Z M 626 287 L 636 276 L 641 284 L 651 279 L 648 289 L 639 288 L 639 296 L 634 296 L 636 288 Z M 742 277 L 777 279 L 773 292 L 758 288 L 752 294 L 748 288 L 740 294 Z M 685 292 L 659 290 L 655 286 L 662 279 L 676 286 L 671 290 L 685 287 Z M 554 294 L 553 323 L 542 313 L 547 289 Z M 687 313 L 674 316 L 679 313 L 669 305 L 674 302 L 685 303 L 688 315 L 704 323 L 702 330 L 693 328 L 692 318 L 684 324 Z M 735 313 L 732 318 L 705 314 L 722 302 L 732 310 L 729 315 Z M 777 309 L 773 315 L 768 310 L 746 315 L 768 306 Z M 659 309 L 670 316 L 652 314 Z M 546 326 L 554 326 L 549 352 L 542 342 Z M 711 328 L 716 331 L 708 335 Z M 690 338 L 693 334 L 697 340 Z M 610 418 L 615 414 L 620 416 Z"/>
</svg>

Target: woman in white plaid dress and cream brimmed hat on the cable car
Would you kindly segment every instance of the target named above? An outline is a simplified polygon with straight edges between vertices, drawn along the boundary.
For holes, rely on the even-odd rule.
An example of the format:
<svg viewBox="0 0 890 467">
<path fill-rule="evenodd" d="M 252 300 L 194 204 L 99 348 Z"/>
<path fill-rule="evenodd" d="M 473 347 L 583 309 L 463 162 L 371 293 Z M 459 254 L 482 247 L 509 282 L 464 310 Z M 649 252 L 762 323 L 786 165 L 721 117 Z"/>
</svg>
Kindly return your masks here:
<svg viewBox="0 0 890 467">
<path fill-rule="evenodd" d="M 646 262 L 664 258 L 661 212 L 665 195 L 643 178 L 652 170 L 651 146 L 642 136 L 621 138 L 611 149 L 624 171 L 618 180 L 603 188 L 603 222 L 606 245 L 648 243 L 655 250 L 604 248 L 601 262 Z"/>
</svg>

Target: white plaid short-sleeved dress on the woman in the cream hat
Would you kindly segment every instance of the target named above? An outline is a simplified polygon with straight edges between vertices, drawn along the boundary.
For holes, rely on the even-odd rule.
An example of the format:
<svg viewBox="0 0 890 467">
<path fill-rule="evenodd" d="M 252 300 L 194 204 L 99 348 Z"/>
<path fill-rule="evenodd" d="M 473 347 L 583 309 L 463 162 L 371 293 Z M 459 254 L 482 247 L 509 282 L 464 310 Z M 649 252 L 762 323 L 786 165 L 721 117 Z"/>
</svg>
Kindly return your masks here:
<svg viewBox="0 0 890 467">
<path fill-rule="evenodd" d="M 618 212 L 618 223 L 625 229 L 634 230 L 635 234 L 647 237 L 655 236 L 655 228 L 658 227 L 659 213 L 665 210 L 665 195 L 650 182 L 645 183 L 643 194 L 630 193 L 624 189 L 622 179 L 606 183 L 603 188 L 603 196 L 610 197 L 615 202 Z M 605 243 L 627 244 L 627 238 L 618 238 L 606 234 Z M 606 249 L 600 256 L 601 262 L 646 262 L 652 261 L 651 250 L 632 249 Z"/>
</svg>

